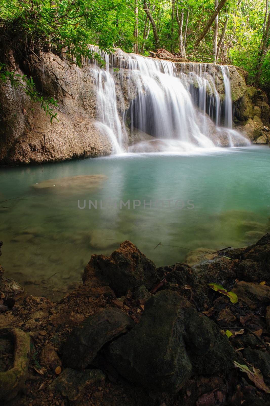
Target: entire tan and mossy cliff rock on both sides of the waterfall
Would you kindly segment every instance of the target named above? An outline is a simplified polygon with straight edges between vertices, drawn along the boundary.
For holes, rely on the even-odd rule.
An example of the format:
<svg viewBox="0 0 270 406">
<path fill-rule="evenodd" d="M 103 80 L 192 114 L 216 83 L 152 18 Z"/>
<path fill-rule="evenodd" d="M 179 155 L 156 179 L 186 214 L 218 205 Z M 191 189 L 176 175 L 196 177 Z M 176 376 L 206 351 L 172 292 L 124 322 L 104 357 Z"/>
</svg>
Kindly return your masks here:
<svg viewBox="0 0 270 406">
<path fill-rule="evenodd" d="M 116 51 L 111 60 L 117 68 L 114 75 L 115 93 L 123 147 L 138 140 L 152 139 L 149 134 L 137 130 L 131 133 L 128 128 L 126 112 L 137 96 L 138 86 L 135 86 L 129 74 L 127 55 Z M 20 75 L 29 73 L 28 66 L 19 67 L 15 60 L 13 65 Z M 179 74 L 196 69 L 196 64 L 191 63 L 175 62 L 175 65 Z M 211 69 L 217 70 L 215 87 L 222 101 L 224 84 L 221 72 L 215 65 Z M 269 125 L 270 107 L 266 95 L 246 86 L 245 73 L 241 69 L 229 67 L 229 72 L 235 106 L 234 120 L 252 141 L 266 142 L 266 132 L 261 131 L 264 125 Z M 36 57 L 32 58 L 31 76 L 44 97 L 53 97 L 58 101 L 59 122 L 53 120 L 51 124 L 49 117 L 37 104 L 30 102 L 21 89 L 0 86 L 0 164 L 51 162 L 112 153 L 108 134 L 96 125 L 97 80 L 100 79 L 88 64 L 83 68 L 70 66 L 59 56 L 44 53 L 42 62 Z"/>
</svg>

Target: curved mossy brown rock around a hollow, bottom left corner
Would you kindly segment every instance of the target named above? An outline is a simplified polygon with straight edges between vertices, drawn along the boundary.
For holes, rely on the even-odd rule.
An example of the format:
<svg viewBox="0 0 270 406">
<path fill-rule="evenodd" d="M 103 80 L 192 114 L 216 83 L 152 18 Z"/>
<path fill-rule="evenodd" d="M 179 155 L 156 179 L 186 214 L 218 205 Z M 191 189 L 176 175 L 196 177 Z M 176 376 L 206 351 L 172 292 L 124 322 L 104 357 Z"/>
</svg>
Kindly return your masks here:
<svg viewBox="0 0 270 406">
<path fill-rule="evenodd" d="M 14 361 L 11 369 L 0 372 L 0 400 L 11 400 L 23 388 L 28 377 L 30 337 L 19 328 L 2 328 L 0 336 L 12 339 Z"/>
</svg>

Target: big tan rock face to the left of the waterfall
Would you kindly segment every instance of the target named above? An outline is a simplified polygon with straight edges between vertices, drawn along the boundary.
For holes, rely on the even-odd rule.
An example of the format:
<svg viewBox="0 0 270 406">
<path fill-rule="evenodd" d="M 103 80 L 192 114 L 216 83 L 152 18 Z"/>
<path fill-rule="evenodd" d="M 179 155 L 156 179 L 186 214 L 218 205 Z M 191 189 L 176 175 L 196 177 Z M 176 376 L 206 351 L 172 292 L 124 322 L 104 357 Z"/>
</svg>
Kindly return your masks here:
<svg viewBox="0 0 270 406">
<path fill-rule="evenodd" d="M 54 54 L 32 60 L 34 82 L 59 104 L 59 122 L 45 116 L 21 89 L 0 86 L 0 163 L 24 164 L 109 155 L 108 137 L 95 126 L 96 89 L 87 70 Z M 17 73 L 26 73 L 17 67 Z M 60 78 L 57 80 L 56 78 Z"/>
</svg>

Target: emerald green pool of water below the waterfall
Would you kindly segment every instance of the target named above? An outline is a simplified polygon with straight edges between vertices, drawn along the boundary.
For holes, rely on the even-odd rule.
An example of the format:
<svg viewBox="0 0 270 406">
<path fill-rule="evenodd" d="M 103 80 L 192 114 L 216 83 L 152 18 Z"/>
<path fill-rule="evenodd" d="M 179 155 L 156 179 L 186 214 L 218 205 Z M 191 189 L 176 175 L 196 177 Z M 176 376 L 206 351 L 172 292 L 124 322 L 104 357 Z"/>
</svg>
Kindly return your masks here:
<svg viewBox="0 0 270 406">
<path fill-rule="evenodd" d="M 157 266 L 184 261 L 188 251 L 180 247 L 251 244 L 268 229 L 269 160 L 269 147 L 260 146 L 2 168 L 0 206 L 13 207 L 0 209 L 6 276 L 31 294 L 57 299 L 81 282 L 92 254 L 109 255 L 126 239 Z M 106 179 L 91 190 L 32 187 L 46 179 L 95 174 Z M 89 209 L 89 199 L 97 200 L 97 209 Z M 78 200 L 81 206 L 86 200 L 85 209 Z M 130 208 L 120 209 L 121 200 L 130 200 Z M 133 208 L 134 200 L 140 206 Z"/>
</svg>

